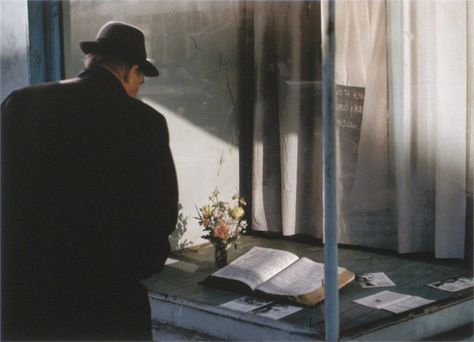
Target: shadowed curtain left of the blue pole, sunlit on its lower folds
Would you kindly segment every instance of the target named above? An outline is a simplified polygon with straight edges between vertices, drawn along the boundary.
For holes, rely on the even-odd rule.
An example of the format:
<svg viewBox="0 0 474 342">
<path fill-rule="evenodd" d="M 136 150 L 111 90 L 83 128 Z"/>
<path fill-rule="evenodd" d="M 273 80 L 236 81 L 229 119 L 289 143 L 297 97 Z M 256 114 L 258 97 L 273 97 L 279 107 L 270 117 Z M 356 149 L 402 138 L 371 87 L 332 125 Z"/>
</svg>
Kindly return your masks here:
<svg viewBox="0 0 474 342">
<path fill-rule="evenodd" d="M 252 228 L 322 237 L 320 8 L 254 2 Z"/>
</svg>

